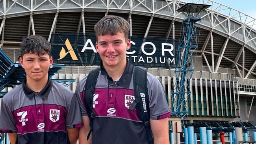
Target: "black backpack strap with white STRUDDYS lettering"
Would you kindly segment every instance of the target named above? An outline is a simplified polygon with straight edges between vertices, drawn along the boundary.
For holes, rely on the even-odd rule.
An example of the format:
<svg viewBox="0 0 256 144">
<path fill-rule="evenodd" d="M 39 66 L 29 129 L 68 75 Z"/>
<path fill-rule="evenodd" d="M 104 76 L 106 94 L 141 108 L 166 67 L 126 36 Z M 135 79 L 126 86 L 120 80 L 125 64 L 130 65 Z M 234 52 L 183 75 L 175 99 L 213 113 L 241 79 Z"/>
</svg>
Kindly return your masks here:
<svg viewBox="0 0 256 144">
<path fill-rule="evenodd" d="M 143 67 L 134 66 L 134 96 L 135 100 L 129 107 L 133 110 L 137 105 L 137 112 L 139 119 L 144 122 L 148 140 L 153 143 L 153 135 L 150 127 L 150 110 L 149 110 L 149 98 L 148 98 L 148 87 L 147 87 L 147 71 Z"/>
</svg>

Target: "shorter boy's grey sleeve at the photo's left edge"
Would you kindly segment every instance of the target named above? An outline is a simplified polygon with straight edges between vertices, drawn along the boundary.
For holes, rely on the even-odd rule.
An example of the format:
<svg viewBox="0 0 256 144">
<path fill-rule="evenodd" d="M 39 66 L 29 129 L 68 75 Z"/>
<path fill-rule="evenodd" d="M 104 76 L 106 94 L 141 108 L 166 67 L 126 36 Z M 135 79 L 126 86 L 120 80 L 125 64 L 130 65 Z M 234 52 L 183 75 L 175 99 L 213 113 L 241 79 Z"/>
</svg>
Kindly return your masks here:
<svg viewBox="0 0 256 144">
<path fill-rule="evenodd" d="M 4 96 L 1 103 L 0 116 L 0 132 L 1 133 L 17 133 L 15 117 L 11 111 L 11 100 Z"/>
</svg>

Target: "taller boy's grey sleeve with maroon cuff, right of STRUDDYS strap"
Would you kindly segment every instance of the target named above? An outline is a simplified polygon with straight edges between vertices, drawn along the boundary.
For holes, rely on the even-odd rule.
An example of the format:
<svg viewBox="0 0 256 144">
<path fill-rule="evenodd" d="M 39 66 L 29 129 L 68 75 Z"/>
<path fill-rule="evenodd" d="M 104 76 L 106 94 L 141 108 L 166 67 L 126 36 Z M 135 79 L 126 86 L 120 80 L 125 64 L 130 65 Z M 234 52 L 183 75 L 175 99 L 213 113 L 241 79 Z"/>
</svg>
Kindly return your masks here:
<svg viewBox="0 0 256 144">
<path fill-rule="evenodd" d="M 148 84 L 150 119 L 159 120 L 169 117 L 171 112 L 162 83 L 154 76 L 148 79 Z"/>
</svg>

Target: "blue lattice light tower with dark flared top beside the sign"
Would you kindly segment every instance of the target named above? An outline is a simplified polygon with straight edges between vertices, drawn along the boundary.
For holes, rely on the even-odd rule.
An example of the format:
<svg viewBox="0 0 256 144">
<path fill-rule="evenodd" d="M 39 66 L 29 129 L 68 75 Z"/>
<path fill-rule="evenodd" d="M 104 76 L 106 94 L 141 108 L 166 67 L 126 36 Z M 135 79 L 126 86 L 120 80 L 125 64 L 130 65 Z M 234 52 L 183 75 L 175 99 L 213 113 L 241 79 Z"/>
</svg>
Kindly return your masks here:
<svg viewBox="0 0 256 144">
<path fill-rule="evenodd" d="M 181 117 L 182 125 L 185 128 L 184 118 L 188 113 L 188 106 L 191 94 L 190 78 L 194 71 L 193 55 L 197 50 L 197 31 L 201 22 L 199 13 L 211 5 L 187 3 L 177 9 L 187 14 L 182 22 L 183 35 L 178 46 L 178 55 L 175 69 L 174 88 L 172 91 L 173 116 Z"/>
</svg>

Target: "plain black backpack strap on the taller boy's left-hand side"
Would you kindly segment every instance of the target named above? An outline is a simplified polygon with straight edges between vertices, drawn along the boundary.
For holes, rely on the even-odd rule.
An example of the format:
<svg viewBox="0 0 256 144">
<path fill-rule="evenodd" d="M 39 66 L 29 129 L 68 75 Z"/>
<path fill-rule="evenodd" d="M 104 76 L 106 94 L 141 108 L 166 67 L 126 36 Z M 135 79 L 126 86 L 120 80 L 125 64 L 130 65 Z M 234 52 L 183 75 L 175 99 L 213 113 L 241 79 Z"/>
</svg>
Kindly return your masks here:
<svg viewBox="0 0 256 144">
<path fill-rule="evenodd" d="M 93 112 L 93 93 L 99 71 L 100 68 L 96 68 L 88 74 L 83 91 L 83 100 L 85 103 L 85 108 L 90 118 L 90 131 L 87 135 L 87 140 L 89 139 L 91 132 L 93 131 L 93 120 L 95 119 L 95 113 Z"/>
</svg>

